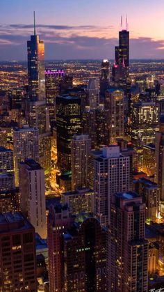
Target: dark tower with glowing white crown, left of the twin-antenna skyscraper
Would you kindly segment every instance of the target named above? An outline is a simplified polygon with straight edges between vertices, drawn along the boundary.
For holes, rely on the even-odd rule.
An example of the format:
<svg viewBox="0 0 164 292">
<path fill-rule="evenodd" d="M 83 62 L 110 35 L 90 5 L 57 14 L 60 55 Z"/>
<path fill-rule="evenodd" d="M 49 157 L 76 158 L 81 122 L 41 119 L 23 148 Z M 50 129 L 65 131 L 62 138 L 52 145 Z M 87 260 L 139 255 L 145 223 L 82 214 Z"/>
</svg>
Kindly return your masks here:
<svg viewBox="0 0 164 292">
<path fill-rule="evenodd" d="M 110 68 L 109 61 L 104 59 L 101 63 L 101 77 L 100 77 L 100 95 L 104 97 L 106 89 L 109 86 Z"/>
</svg>

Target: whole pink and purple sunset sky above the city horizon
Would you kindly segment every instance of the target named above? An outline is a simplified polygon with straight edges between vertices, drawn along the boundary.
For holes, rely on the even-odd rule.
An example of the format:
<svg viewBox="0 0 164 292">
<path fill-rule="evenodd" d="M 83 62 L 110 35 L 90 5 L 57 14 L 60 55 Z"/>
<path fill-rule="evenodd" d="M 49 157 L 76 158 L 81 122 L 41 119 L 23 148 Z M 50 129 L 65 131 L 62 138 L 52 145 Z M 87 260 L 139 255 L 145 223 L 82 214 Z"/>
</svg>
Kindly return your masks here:
<svg viewBox="0 0 164 292">
<path fill-rule="evenodd" d="M 131 58 L 164 59 L 164 0 L 1 0 L 0 61 L 26 60 L 33 10 L 46 59 L 113 59 L 121 15 Z"/>
</svg>

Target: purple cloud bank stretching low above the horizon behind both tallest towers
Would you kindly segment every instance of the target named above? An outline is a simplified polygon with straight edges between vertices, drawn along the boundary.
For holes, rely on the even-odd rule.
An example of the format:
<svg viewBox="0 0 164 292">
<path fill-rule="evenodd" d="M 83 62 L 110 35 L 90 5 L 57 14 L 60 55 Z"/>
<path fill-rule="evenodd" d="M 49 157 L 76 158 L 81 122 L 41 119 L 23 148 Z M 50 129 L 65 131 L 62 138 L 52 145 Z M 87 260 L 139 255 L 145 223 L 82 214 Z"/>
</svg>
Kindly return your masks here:
<svg viewBox="0 0 164 292">
<path fill-rule="evenodd" d="M 45 43 L 46 59 L 113 59 L 118 44 L 113 30 L 113 26 L 37 25 L 40 39 Z M 31 33 L 32 24 L 1 25 L 0 60 L 26 59 L 26 40 Z M 132 59 L 162 59 L 163 47 L 163 40 L 132 38 L 130 55 Z"/>
</svg>

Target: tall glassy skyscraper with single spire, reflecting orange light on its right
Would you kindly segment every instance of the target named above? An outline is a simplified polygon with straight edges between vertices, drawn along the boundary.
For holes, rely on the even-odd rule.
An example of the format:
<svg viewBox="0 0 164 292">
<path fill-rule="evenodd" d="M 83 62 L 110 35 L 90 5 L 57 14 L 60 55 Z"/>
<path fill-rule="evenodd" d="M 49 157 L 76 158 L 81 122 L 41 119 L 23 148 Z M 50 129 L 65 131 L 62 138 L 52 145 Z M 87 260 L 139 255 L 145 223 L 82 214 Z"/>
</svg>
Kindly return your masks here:
<svg viewBox="0 0 164 292">
<path fill-rule="evenodd" d="M 33 101 L 45 100 L 44 42 L 35 31 L 35 13 L 34 32 L 27 42 L 27 52 L 29 97 Z"/>
</svg>

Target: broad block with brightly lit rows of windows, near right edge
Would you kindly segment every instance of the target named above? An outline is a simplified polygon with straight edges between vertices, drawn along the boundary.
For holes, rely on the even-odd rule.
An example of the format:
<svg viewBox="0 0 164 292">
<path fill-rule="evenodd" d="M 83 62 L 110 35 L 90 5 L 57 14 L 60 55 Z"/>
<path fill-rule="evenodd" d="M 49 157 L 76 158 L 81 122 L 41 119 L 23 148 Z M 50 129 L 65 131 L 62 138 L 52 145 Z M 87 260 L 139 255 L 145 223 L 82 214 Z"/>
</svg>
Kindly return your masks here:
<svg viewBox="0 0 164 292">
<path fill-rule="evenodd" d="M 136 146 L 154 143 L 159 130 L 159 106 L 155 102 L 138 102 L 131 112 L 131 141 Z"/>
</svg>

